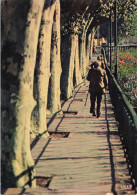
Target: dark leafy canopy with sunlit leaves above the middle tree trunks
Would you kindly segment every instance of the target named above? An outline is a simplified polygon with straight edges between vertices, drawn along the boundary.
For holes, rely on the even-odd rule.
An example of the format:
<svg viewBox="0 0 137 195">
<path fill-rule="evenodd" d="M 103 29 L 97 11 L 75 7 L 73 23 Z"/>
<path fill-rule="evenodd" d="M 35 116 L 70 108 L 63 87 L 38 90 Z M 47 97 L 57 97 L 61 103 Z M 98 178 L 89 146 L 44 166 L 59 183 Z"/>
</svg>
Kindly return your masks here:
<svg viewBox="0 0 137 195">
<path fill-rule="evenodd" d="M 71 6 L 68 2 L 61 1 L 61 34 L 82 34 L 83 27 L 94 17 L 94 12 L 100 6 L 100 1 L 73 1 Z M 77 2 L 77 4 L 76 4 Z M 81 6 L 79 6 L 79 4 Z"/>
</svg>

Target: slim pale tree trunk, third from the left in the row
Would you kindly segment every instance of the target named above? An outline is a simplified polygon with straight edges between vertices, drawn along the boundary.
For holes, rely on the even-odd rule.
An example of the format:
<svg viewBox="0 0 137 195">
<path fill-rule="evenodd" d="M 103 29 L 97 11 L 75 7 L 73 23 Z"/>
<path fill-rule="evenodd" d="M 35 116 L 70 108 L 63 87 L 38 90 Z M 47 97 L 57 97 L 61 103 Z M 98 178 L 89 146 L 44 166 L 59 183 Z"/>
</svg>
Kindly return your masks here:
<svg viewBox="0 0 137 195">
<path fill-rule="evenodd" d="M 50 55 L 51 77 L 48 93 L 48 109 L 52 114 L 61 110 L 60 105 L 60 75 L 61 75 L 61 59 L 60 59 L 60 1 L 56 1 L 54 12 L 54 21 L 52 26 L 52 41 Z"/>
</svg>

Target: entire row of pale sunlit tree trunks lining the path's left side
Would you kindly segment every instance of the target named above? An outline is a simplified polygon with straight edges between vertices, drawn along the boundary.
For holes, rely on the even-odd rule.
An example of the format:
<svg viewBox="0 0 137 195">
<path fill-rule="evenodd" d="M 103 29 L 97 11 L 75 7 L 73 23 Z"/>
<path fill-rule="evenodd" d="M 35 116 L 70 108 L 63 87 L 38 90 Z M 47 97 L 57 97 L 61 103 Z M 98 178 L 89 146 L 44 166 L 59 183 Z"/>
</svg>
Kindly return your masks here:
<svg viewBox="0 0 137 195">
<path fill-rule="evenodd" d="M 61 111 L 86 76 L 94 30 L 62 38 L 59 0 L 2 4 L 2 187 L 36 187 L 30 132 L 47 138 L 47 112 Z"/>
</svg>

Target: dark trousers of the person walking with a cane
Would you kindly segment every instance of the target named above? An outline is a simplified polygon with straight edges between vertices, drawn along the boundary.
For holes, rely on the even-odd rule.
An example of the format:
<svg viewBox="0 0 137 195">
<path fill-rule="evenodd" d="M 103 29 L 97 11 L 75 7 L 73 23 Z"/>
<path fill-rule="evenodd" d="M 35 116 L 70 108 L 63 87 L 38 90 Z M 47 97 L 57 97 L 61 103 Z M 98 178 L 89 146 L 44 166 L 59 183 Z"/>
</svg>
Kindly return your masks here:
<svg viewBox="0 0 137 195">
<path fill-rule="evenodd" d="M 100 114 L 100 109 L 101 109 L 101 100 L 102 100 L 102 93 L 90 93 L 90 102 L 91 102 L 91 107 L 90 107 L 90 112 L 95 113 L 95 102 L 97 100 L 97 115 Z"/>
</svg>

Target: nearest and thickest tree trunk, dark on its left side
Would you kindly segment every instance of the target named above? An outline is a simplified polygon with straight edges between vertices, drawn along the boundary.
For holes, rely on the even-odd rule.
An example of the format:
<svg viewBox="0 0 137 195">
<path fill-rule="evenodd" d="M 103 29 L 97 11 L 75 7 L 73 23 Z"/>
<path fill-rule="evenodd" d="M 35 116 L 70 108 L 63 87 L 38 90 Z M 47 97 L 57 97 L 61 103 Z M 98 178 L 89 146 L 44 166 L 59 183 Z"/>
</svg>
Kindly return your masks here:
<svg viewBox="0 0 137 195">
<path fill-rule="evenodd" d="M 43 6 L 9 0 L 2 7 L 2 187 L 36 187 L 30 121 Z"/>
</svg>

